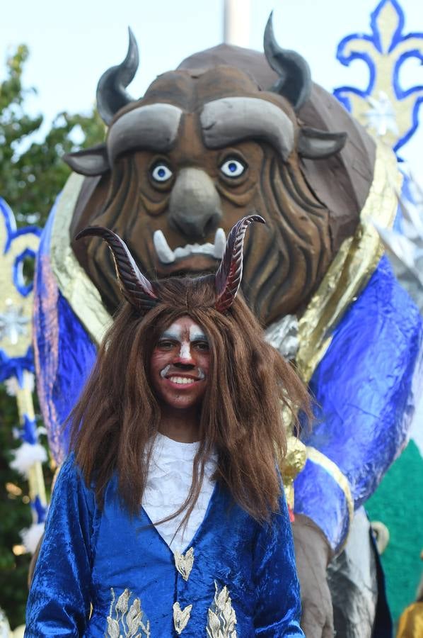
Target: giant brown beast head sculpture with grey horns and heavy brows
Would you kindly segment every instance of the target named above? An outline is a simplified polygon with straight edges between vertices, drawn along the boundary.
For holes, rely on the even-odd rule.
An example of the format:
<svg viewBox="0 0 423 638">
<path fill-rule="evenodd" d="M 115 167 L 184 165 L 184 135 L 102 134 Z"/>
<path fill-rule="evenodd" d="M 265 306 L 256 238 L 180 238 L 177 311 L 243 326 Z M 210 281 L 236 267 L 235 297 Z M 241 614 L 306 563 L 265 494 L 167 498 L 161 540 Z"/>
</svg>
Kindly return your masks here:
<svg viewBox="0 0 423 638">
<path fill-rule="evenodd" d="M 125 89 L 137 66 L 129 33 L 124 62 L 98 84 L 105 143 L 66 158 L 87 176 L 71 233 L 110 228 L 143 272 L 160 277 L 214 271 L 228 230 L 259 213 L 267 225 L 248 237 L 245 297 L 266 325 L 301 312 L 357 224 L 371 181 L 371 142 L 342 106 L 313 88 L 301 56 L 277 45 L 272 18 L 265 56 L 216 47 L 159 76 L 134 101 Z M 319 128 L 305 125 L 315 121 Z M 353 138 L 342 157 L 347 135 L 331 130 L 334 123 Z M 104 274 L 113 269 L 108 250 L 98 239 L 73 248 L 113 310 L 119 293 Z"/>
</svg>

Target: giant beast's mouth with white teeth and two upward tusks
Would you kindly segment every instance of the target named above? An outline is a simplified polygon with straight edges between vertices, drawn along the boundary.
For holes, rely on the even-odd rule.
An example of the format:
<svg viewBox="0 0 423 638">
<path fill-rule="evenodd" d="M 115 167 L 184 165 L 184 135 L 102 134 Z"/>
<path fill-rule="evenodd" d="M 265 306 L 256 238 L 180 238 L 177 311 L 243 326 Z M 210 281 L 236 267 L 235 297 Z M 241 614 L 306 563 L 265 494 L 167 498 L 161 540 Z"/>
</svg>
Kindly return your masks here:
<svg viewBox="0 0 423 638">
<path fill-rule="evenodd" d="M 192 256 L 206 256 L 212 257 L 212 259 L 221 259 L 226 246 L 226 235 L 223 228 L 218 228 L 216 235 L 214 235 L 213 244 L 210 242 L 204 244 L 186 244 L 185 246 L 178 246 L 172 250 L 163 232 L 156 230 L 153 234 L 153 245 L 158 261 L 160 264 L 166 266 L 177 264 L 183 259 Z"/>
</svg>

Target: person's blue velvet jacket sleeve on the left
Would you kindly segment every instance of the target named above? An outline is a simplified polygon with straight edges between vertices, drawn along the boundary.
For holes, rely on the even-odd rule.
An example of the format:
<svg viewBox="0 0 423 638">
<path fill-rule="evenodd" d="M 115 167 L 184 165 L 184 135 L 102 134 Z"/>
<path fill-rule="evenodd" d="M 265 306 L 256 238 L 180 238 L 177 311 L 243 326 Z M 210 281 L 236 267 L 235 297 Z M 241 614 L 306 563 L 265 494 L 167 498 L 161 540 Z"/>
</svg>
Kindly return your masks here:
<svg viewBox="0 0 423 638">
<path fill-rule="evenodd" d="M 91 603 L 93 509 L 93 493 L 69 457 L 52 494 L 28 598 L 26 638 L 83 635 Z"/>
</svg>

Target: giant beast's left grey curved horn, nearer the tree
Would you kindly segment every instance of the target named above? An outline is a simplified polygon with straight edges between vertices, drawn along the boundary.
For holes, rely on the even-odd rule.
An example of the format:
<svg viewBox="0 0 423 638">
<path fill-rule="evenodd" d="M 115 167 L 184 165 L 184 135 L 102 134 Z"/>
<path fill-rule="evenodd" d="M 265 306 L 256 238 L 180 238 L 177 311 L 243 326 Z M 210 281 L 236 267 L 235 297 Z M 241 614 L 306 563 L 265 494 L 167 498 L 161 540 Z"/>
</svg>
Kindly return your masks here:
<svg viewBox="0 0 423 638">
<path fill-rule="evenodd" d="M 137 73 L 139 57 L 138 45 L 132 30 L 129 31 L 127 57 L 122 64 L 110 67 L 103 73 L 97 85 L 97 110 L 107 125 L 122 106 L 132 102 L 133 98 L 125 91 Z"/>
</svg>

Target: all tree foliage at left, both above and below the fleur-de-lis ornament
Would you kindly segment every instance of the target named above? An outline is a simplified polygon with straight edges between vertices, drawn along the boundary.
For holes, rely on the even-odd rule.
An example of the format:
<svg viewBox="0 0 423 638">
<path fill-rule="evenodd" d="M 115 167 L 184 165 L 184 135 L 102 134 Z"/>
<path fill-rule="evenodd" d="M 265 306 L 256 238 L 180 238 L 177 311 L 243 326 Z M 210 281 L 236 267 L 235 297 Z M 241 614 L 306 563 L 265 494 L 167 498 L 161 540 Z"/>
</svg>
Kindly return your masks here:
<svg viewBox="0 0 423 638">
<path fill-rule="evenodd" d="M 59 113 L 45 139 L 38 141 L 42 116 L 30 116 L 22 73 L 28 48 L 18 47 L 7 60 L 6 79 L 0 82 L 0 196 L 16 215 L 18 225 L 44 225 L 50 208 L 70 174 L 60 159 L 64 152 L 103 141 L 105 129 L 98 114 Z M 78 140 L 76 142 L 76 140 Z M 38 418 L 39 425 L 40 418 Z M 28 483 L 9 467 L 18 425 L 16 400 L 0 386 L 0 607 L 12 629 L 25 622 L 29 554 L 20 554 L 20 530 L 32 522 Z M 52 471 L 45 464 L 47 491 Z M 14 549 L 14 551 L 13 551 Z"/>
</svg>

